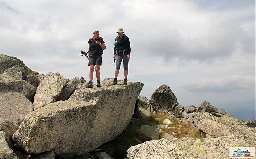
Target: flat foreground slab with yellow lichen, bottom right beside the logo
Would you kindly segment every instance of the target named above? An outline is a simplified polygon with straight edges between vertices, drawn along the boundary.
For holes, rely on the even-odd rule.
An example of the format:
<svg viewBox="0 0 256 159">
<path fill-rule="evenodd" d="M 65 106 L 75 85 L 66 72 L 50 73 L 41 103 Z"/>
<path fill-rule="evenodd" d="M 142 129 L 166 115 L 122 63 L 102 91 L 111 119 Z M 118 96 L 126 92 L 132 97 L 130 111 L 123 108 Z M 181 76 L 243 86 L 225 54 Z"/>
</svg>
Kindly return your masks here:
<svg viewBox="0 0 256 159">
<path fill-rule="evenodd" d="M 132 146 L 127 158 L 229 158 L 229 147 L 254 147 L 243 135 L 211 139 L 163 138 Z"/>
</svg>

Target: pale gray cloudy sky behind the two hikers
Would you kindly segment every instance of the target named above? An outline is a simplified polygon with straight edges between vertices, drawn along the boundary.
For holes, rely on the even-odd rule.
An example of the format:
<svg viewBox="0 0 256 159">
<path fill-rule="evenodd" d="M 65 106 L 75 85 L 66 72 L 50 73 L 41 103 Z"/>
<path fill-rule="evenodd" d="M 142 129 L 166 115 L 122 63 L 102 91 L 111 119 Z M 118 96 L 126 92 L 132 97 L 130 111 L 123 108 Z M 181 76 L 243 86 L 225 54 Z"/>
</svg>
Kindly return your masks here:
<svg viewBox="0 0 256 159">
<path fill-rule="evenodd" d="M 119 27 L 131 42 L 128 80 L 145 84 L 141 96 L 166 84 L 183 106 L 206 100 L 255 119 L 254 0 L 0 0 L 0 54 L 39 73 L 88 81 L 79 51 L 98 29 L 106 44 L 101 79 L 113 78 Z"/>
</svg>

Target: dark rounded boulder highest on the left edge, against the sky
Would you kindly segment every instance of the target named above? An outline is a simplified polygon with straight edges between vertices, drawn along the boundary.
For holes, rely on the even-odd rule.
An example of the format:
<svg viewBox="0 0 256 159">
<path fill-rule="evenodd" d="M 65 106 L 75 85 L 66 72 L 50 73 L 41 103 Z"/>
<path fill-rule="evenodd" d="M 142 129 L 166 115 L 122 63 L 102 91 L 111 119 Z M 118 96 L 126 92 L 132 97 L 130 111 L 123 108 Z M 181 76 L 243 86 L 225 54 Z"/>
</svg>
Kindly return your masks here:
<svg viewBox="0 0 256 159">
<path fill-rule="evenodd" d="M 21 72 L 23 80 L 26 80 L 27 76 L 33 73 L 33 71 L 29 69 L 23 61 L 16 57 L 0 54 L 0 74 L 12 67 L 15 67 L 15 69 L 18 69 Z"/>
</svg>

